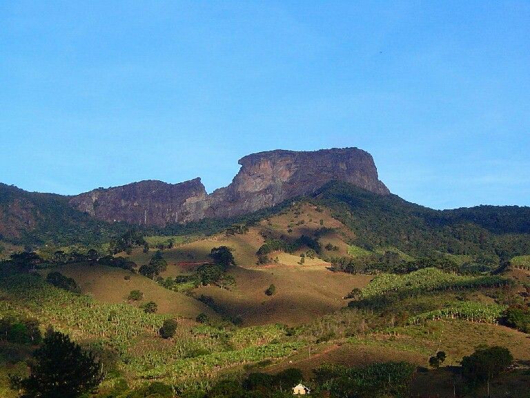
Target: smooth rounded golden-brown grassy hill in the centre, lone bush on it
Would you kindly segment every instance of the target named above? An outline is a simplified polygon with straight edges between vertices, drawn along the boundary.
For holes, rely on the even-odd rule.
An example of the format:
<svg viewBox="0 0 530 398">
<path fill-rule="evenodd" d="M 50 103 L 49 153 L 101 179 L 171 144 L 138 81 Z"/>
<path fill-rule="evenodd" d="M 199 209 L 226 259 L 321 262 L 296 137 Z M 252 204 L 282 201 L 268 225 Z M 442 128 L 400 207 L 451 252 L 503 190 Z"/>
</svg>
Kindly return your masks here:
<svg viewBox="0 0 530 398">
<path fill-rule="evenodd" d="M 260 269 L 235 268 L 230 271 L 237 284 L 233 290 L 206 286 L 195 295 L 213 297 L 216 307 L 231 318 L 241 317 L 244 325 L 285 323 L 298 325 L 329 314 L 346 305 L 342 299 L 353 287 L 363 287 L 371 276 L 329 272 L 325 267 L 306 268 L 275 265 Z M 265 290 L 276 287 L 273 296 Z"/>
</svg>

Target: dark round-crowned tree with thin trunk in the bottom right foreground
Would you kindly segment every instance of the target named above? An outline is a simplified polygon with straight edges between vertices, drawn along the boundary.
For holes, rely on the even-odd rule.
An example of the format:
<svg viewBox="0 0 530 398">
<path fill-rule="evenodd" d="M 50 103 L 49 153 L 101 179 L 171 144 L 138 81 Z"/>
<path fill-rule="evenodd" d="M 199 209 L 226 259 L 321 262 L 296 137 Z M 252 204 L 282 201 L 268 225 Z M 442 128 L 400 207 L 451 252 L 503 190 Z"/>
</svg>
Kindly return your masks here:
<svg viewBox="0 0 530 398">
<path fill-rule="evenodd" d="M 472 385 L 487 382 L 489 396 L 489 381 L 513 363 L 513 356 L 508 348 L 495 345 L 487 348 L 477 348 L 469 357 L 462 358 L 462 376 Z"/>
</svg>

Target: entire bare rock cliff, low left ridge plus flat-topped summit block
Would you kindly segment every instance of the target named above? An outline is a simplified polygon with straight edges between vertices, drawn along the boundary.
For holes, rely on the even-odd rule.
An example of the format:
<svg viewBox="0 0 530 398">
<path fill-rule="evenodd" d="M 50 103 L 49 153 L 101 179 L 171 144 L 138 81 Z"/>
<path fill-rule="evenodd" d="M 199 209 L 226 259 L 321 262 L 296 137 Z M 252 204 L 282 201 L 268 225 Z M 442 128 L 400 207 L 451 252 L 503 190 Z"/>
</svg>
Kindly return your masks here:
<svg viewBox="0 0 530 398">
<path fill-rule="evenodd" d="M 257 211 L 311 193 L 331 180 L 389 193 L 377 178 L 372 156 L 357 148 L 268 151 L 245 156 L 239 164 L 232 183 L 210 195 L 199 178 L 181 184 L 142 181 L 81 193 L 70 205 L 101 220 L 163 226 Z"/>
</svg>

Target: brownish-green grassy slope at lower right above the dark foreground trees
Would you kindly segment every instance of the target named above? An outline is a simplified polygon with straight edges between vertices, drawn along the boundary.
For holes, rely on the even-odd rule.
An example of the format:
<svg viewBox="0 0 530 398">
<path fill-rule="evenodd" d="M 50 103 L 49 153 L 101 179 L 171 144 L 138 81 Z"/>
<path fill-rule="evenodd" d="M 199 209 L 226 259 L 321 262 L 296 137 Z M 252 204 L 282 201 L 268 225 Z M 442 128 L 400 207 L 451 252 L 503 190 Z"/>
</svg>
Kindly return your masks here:
<svg viewBox="0 0 530 398">
<path fill-rule="evenodd" d="M 458 366 L 462 357 L 471 354 L 479 345 L 502 345 L 509 348 L 516 361 L 530 359 L 527 334 L 500 325 L 446 320 L 312 345 L 311 354 L 308 347 L 304 348 L 266 370 L 277 372 L 296 367 L 311 377 L 312 370 L 323 363 L 366 366 L 374 362 L 408 361 L 426 367 L 429 357 L 440 350 L 447 354 L 445 366 Z"/>
</svg>

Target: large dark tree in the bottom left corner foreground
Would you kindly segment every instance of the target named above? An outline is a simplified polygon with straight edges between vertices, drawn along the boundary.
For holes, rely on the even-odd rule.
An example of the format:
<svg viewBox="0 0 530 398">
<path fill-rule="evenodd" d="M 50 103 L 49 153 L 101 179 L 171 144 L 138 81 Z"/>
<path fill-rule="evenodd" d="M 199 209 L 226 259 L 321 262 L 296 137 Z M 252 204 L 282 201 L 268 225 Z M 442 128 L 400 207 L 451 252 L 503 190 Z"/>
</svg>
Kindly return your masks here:
<svg viewBox="0 0 530 398">
<path fill-rule="evenodd" d="M 103 379 L 93 355 L 61 332 L 48 331 L 33 358 L 30 377 L 21 381 L 26 397 L 77 398 Z"/>
</svg>

